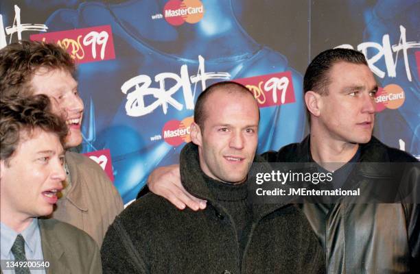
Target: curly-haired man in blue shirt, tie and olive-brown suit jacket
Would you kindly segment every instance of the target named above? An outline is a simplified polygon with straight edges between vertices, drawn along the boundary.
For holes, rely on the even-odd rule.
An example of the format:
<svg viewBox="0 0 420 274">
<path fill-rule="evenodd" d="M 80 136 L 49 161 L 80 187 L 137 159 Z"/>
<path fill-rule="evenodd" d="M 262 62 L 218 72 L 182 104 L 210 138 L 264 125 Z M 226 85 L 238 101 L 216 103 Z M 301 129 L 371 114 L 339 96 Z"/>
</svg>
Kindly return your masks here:
<svg viewBox="0 0 420 274">
<path fill-rule="evenodd" d="M 66 178 L 67 126 L 49 99 L 0 99 L 0 219 L 3 273 L 101 273 L 99 248 L 85 232 L 54 219 Z M 32 272 L 34 273 L 34 272 Z"/>
</svg>

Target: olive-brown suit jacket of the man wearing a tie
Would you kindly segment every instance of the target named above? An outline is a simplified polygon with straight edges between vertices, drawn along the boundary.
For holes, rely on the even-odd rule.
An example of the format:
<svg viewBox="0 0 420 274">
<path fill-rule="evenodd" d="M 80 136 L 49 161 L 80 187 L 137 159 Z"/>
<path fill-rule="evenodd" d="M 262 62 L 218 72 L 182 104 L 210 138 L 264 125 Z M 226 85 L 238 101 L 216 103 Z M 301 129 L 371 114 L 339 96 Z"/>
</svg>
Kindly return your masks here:
<svg viewBox="0 0 420 274">
<path fill-rule="evenodd" d="M 47 274 L 100 274 L 102 264 L 96 242 L 82 230 L 55 219 L 39 219 Z"/>
</svg>

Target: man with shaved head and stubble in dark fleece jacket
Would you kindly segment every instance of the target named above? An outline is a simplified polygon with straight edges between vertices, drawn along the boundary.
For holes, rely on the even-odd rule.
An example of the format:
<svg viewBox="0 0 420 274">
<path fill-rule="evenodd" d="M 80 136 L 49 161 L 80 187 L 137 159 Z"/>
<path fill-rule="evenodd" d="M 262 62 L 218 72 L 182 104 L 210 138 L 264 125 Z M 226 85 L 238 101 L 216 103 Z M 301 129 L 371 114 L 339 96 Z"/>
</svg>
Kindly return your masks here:
<svg viewBox="0 0 420 274">
<path fill-rule="evenodd" d="M 203 91 L 180 177 L 209 201 L 206 210 L 180 211 L 152 193 L 135 201 L 108 229 L 104 273 L 324 273 L 322 249 L 298 208 L 250 203 L 248 174 L 266 165 L 255 157 L 258 125 L 244 86 Z"/>
</svg>

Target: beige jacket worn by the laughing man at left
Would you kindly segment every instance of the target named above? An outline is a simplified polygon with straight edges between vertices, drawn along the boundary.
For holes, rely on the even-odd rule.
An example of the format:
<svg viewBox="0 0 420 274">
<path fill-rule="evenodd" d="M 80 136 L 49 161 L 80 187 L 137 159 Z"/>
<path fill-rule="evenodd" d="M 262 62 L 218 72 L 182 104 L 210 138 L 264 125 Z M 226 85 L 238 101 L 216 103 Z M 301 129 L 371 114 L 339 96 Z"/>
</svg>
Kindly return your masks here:
<svg viewBox="0 0 420 274">
<path fill-rule="evenodd" d="M 86 156 L 66 152 L 71 188 L 58 199 L 52 217 L 89 234 L 99 247 L 115 216 L 124 209 L 119 193 L 100 165 Z"/>
</svg>

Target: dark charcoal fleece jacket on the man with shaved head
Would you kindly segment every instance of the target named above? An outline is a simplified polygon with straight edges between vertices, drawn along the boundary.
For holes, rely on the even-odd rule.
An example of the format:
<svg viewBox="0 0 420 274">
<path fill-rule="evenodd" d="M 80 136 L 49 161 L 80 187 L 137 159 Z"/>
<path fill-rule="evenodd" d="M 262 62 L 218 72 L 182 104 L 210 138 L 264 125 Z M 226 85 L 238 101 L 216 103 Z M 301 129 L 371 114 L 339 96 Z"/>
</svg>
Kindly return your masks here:
<svg viewBox="0 0 420 274">
<path fill-rule="evenodd" d="M 183 186 L 207 199 L 207 208 L 181 211 L 152 193 L 138 199 L 108 229 L 104 273 L 325 273 L 322 247 L 294 205 L 252 206 L 241 263 L 234 218 L 209 190 L 196 145 L 181 152 L 180 172 Z"/>
</svg>

